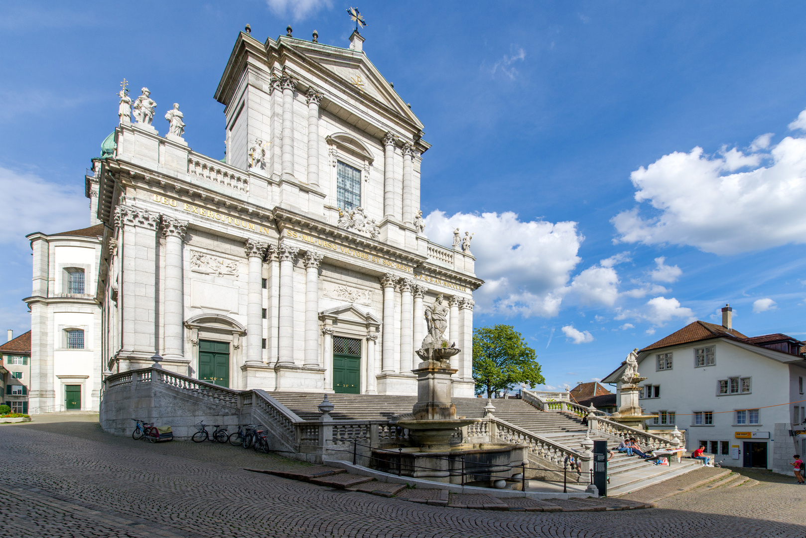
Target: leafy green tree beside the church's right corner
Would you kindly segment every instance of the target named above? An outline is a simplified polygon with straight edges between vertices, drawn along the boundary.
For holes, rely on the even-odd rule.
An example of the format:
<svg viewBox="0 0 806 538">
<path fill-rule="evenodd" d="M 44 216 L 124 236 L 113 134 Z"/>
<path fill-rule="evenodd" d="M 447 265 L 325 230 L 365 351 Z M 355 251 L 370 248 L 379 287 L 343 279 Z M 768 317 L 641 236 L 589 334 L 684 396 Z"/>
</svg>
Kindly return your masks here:
<svg viewBox="0 0 806 538">
<path fill-rule="evenodd" d="M 509 389 L 520 383 L 534 386 L 546 382 L 540 373 L 534 349 L 526 345 L 512 325 L 473 330 L 473 379 L 476 394 Z"/>
</svg>

